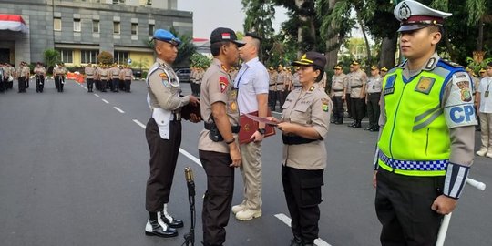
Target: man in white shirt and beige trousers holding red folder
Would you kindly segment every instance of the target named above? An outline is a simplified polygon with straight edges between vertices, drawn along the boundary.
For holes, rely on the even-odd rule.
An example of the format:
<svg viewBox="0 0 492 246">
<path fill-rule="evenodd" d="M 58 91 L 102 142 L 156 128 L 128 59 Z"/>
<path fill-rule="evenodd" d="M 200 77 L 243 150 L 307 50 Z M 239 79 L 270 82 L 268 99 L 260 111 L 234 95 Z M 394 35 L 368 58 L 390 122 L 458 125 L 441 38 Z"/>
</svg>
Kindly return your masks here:
<svg viewBox="0 0 492 246">
<path fill-rule="evenodd" d="M 261 37 L 247 33 L 242 39 L 246 43 L 240 48 L 244 61 L 234 79 L 238 92 L 240 115 L 258 111 L 259 117 L 268 112 L 268 71 L 258 59 Z M 241 144 L 241 174 L 244 181 L 244 199 L 233 206 L 232 212 L 238 220 L 252 220 L 261 216 L 261 140 L 265 134 L 265 124 L 260 123 L 251 135 L 251 142 Z"/>
</svg>

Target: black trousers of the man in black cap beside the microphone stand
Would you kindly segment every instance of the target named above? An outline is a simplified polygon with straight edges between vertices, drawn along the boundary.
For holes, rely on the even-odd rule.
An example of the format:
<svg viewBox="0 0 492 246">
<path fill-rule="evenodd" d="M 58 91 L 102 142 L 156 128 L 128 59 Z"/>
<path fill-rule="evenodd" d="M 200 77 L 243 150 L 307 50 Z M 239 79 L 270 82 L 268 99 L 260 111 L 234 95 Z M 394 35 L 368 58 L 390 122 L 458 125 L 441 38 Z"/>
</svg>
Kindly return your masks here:
<svg viewBox="0 0 492 246">
<path fill-rule="evenodd" d="M 231 214 L 234 191 L 234 168 L 229 153 L 199 150 L 200 161 L 207 174 L 207 191 L 203 200 L 201 220 L 205 246 L 222 245 L 225 227 Z"/>
</svg>

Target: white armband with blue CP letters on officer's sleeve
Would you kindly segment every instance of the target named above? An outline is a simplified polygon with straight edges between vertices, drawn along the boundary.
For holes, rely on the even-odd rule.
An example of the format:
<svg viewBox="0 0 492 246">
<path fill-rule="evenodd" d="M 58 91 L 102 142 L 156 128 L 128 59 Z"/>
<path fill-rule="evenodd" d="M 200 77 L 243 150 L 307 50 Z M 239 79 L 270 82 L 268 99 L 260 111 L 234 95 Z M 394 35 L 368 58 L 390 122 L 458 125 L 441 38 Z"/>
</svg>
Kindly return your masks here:
<svg viewBox="0 0 492 246">
<path fill-rule="evenodd" d="M 449 128 L 471 126 L 477 124 L 473 105 L 452 106 L 445 109 L 446 123 Z"/>
</svg>

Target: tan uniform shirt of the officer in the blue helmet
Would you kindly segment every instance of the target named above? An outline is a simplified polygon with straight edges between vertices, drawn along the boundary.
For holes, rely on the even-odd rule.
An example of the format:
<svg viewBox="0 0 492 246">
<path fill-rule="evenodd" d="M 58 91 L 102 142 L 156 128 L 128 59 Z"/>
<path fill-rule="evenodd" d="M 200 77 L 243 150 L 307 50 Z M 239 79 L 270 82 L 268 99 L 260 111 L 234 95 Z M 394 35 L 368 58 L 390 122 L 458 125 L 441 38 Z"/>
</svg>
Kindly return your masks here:
<svg viewBox="0 0 492 246">
<path fill-rule="evenodd" d="M 190 102 L 190 97 L 179 97 L 179 78 L 172 67 L 160 58 L 149 71 L 149 106 L 169 111 L 178 110 Z"/>
</svg>

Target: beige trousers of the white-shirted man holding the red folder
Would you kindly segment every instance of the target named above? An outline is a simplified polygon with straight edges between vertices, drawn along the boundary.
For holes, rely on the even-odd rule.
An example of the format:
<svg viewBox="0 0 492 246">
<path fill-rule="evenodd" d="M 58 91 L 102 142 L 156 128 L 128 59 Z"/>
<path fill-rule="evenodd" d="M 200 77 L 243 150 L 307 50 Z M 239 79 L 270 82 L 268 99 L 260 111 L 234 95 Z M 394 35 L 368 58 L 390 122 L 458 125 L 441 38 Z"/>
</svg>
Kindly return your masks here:
<svg viewBox="0 0 492 246">
<path fill-rule="evenodd" d="M 261 209 L 261 142 L 241 144 L 241 174 L 244 181 L 242 204 L 248 209 Z"/>
</svg>

